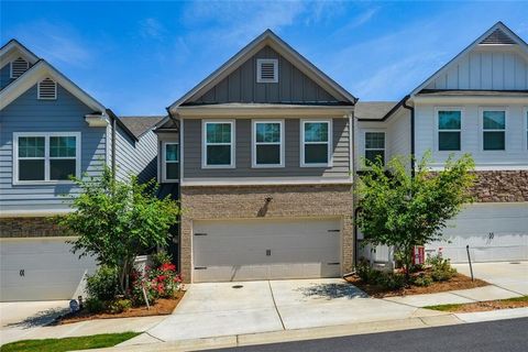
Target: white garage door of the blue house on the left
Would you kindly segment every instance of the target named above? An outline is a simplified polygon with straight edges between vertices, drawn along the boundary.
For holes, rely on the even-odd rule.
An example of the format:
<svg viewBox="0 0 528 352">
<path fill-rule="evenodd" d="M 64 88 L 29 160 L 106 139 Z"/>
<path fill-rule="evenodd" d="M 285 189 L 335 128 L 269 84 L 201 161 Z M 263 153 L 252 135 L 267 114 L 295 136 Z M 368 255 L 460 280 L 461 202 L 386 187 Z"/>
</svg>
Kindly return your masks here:
<svg viewBox="0 0 528 352">
<path fill-rule="evenodd" d="M 70 299 L 81 293 L 92 258 L 78 260 L 65 239 L 1 239 L 0 300 Z M 79 289 L 79 290 L 78 290 Z"/>
</svg>

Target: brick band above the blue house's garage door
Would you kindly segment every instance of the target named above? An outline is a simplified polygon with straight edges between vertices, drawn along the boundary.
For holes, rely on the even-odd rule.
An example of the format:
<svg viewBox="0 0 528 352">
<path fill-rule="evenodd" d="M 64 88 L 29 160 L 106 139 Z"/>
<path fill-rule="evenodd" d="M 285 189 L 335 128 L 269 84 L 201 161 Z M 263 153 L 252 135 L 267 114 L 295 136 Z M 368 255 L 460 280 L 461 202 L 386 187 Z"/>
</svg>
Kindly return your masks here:
<svg viewBox="0 0 528 352">
<path fill-rule="evenodd" d="M 0 238 L 44 238 L 68 235 L 50 218 L 0 218 Z"/>
</svg>

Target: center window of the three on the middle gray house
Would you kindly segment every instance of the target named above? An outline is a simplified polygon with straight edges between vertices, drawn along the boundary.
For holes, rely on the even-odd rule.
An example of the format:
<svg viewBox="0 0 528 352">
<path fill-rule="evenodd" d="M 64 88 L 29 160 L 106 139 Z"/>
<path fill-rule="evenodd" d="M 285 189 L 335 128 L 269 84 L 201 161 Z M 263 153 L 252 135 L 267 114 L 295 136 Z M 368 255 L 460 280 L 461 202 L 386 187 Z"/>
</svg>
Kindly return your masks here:
<svg viewBox="0 0 528 352">
<path fill-rule="evenodd" d="M 284 121 L 253 121 L 253 167 L 284 166 Z"/>
</svg>

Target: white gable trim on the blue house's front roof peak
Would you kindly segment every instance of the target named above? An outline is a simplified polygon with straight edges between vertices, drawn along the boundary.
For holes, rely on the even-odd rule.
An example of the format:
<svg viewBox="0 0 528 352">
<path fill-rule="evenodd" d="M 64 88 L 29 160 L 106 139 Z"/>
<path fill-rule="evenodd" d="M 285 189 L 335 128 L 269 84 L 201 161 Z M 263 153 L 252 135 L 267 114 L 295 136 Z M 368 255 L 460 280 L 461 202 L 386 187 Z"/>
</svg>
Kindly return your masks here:
<svg viewBox="0 0 528 352">
<path fill-rule="evenodd" d="M 0 110 L 6 108 L 14 99 L 20 97 L 23 92 L 25 92 L 28 89 L 30 89 L 46 77 L 55 80 L 55 82 L 61 85 L 61 87 L 63 87 L 64 89 L 68 90 L 72 95 L 86 103 L 89 108 L 94 109 L 95 111 L 105 113 L 106 109 L 99 101 L 90 97 L 86 91 L 80 89 L 76 84 L 74 84 L 63 74 L 61 74 L 57 69 L 55 69 L 45 61 L 37 62 L 36 65 L 31 67 L 16 80 L 14 80 L 12 84 L 10 84 L 0 91 Z"/>
</svg>

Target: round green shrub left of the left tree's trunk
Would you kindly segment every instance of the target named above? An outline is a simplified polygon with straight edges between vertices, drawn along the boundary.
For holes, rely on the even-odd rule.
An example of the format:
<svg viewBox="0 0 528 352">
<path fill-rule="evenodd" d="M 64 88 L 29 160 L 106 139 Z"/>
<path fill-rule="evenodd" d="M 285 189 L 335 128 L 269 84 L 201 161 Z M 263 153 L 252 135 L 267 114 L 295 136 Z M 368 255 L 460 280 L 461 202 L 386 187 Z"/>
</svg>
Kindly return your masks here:
<svg viewBox="0 0 528 352">
<path fill-rule="evenodd" d="M 88 275 L 86 290 L 91 298 L 102 301 L 114 299 L 119 294 L 118 270 L 107 265 L 100 266 L 94 275 Z"/>
</svg>

